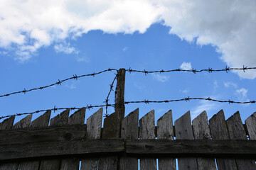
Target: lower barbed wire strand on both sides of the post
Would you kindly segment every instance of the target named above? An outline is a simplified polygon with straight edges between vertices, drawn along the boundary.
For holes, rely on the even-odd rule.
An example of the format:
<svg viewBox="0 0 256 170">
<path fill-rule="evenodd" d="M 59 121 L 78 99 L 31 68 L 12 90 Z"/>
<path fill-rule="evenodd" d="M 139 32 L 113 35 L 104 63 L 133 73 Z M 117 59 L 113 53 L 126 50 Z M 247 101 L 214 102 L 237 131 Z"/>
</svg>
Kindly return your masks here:
<svg viewBox="0 0 256 170">
<path fill-rule="evenodd" d="M 192 100 L 205 100 L 205 101 L 215 101 L 215 102 L 220 102 L 220 103 L 238 103 L 238 104 L 247 104 L 247 103 L 256 103 L 256 101 L 220 101 L 220 100 L 216 100 L 216 99 L 213 99 L 213 98 L 181 98 L 181 99 L 174 99 L 174 100 L 165 100 L 165 101 L 149 101 L 149 100 L 144 100 L 144 101 L 124 101 L 124 104 L 129 104 L 129 103 L 145 103 L 145 104 L 149 104 L 149 103 L 171 103 L 171 102 L 176 102 L 176 101 L 192 101 Z M 86 106 L 86 107 L 83 107 L 83 108 L 86 108 L 88 110 L 90 110 L 91 108 L 98 108 L 98 107 L 105 107 L 105 106 L 116 106 L 117 104 L 110 104 L 110 103 L 106 103 L 105 105 L 96 105 L 96 106 Z M 60 110 L 66 110 L 66 109 L 70 109 L 71 111 L 72 110 L 78 110 L 78 109 L 81 109 L 81 108 L 76 108 L 76 107 L 73 107 L 73 108 L 56 108 L 54 106 L 54 108 L 51 108 L 51 109 L 45 109 L 45 110 L 40 110 L 40 111 L 33 111 L 33 112 L 29 112 L 29 113 L 16 113 L 14 115 L 30 115 L 30 114 L 35 114 L 35 113 L 41 113 L 41 112 L 46 112 L 46 111 L 60 111 Z M 13 115 L 5 115 L 5 116 L 1 116 L 0 117 L 0 120 L 3 119 L 3 118 L 9 118 Z"/>
</svg>

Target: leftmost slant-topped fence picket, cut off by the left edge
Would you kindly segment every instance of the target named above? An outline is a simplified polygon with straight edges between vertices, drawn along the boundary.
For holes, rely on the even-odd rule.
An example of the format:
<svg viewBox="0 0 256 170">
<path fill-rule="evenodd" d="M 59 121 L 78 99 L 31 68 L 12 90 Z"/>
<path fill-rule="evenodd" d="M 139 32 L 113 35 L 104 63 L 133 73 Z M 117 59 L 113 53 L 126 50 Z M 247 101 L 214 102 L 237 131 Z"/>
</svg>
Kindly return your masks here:
<svg viewBox="0 0 256 170">
<path fill-rule="evenodd" d="M 0 130 L 7 130 L 13 128 L 15 115 L 5 119 L 0 123 Z M 0 170 L 16 170 L 18 169 L 18 163 L 4 163 L 0 164 Z"/>
</svg>

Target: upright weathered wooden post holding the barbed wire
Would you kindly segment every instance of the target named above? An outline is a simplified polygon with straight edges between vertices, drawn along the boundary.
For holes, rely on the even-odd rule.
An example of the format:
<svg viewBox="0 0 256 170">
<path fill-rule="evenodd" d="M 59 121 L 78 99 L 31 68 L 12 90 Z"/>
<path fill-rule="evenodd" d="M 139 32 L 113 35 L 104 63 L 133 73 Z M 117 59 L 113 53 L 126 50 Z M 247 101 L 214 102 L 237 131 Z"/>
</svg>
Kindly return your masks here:
<svg viewBox="0 0 256 170">
<path fill-rule="evenodd" d="M 125 83 L 125 69 L 119 69 L 117 72 L 117 87 L 114 92 L 114 111 L 117 114 L 119 137 L 121 137 L 121 122 L 124 119 L 124 83 Z"/>
</svg>

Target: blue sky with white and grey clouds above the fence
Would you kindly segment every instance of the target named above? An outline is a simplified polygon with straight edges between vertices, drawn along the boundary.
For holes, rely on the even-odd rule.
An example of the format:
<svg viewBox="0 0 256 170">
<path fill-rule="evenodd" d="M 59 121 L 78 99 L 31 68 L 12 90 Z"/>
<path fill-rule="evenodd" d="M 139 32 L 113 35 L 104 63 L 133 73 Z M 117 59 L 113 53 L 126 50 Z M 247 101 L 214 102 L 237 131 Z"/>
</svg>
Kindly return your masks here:
<svg viewBox="0 0 256 170">
<path fill-rule="evenodd" d="M 224 7 L 232 6 L 235 9 L 222 13 L 223 17 L 220 17 L 221 13 L 217 10 L 218 3 L 214 2 L 211 6 L 213 9 L 206 13 L 205 10 L 209 5 L 202 2 L 202 6 L 198 6 L 201 1 L 196 1 L 193 4 L 196 7 L 193 8 L 198 10 L 189 13 L 193 8 L 186 6 L 186 1 L 180 4 L 182 6 L 176 5 L 176 7 L 172 7 L 179 3 L 176 1 L 170 1 L 169 4 L 159 2 L 160 4 L 157 5 L 152 1 L 132 1 L 137 8 L 144 8 L 142 14 L 128 1 L 119 1 L 117 5 L 111 2 L 100 4 L 99 1 L 99 4 L 93 4 L 87 1 L 87 5 L 96 7 L 85 8 L 86 12 L 75 10 L 79 5 L 86 5 L 81 4 L 81 1 L 75 1 L 73 7 L 68 4 L 60 5 L 59 1 L 55 4 L 47 1 L 48 3 L 43 4 L 40 10 L 31 10 L 31 13 L 35 13 L 44 25 L 33 23 L 38 18 L 25 10 L 37 4 L 33 1 L 25 2 L 23 5 L 18 2 L 16 4 L 1 2 L 6 8 L 12 8 L 17 13 L 23 14 L 15 18 L 12 13 L 0 12 L 1 95 L 21 91 L 24 88 L 46 86 L 55 83 L 58 79 L 72 77 L 73 74 L 90 74 L 108 68 L 131 67 L 154 71 L 208 67 L 223 69 L 226 65 L 256 66 L 252 45 L 256 35 L 253 27 L 250 27 L 255 26 L 255 21 L 252 20 L 255 12 L 250 10 L 250 5 L 255 6 L 253 1 L 250 2 L 251 4 L 243 4 L 244 8 L 235 8 L 240 6 L 240 1 L 237 4 L 228 1 Z M 51 11 L 53 5 L 59 8 L 56 7 L 54 13 L 45 12 Z M 119 8 L 131 9 L 132 14 L 122 13 L 117 10 Z M 66 21 L 63 17 L 60 18 L 63 10 Z M 183 16 L 178 17 L 179 13 L 183 13 Z M 235 18 L 239 13 L 240 18 Z M 53 15 L 53 21 L 49 15 Z M 247 20 L 244 20 L 246 17 Z M 14 18 L 20 22 L 15 23 Z M 193 24 L 189 23 L 191 20 L 194 21 Z M 84 21 L 85 25 L 81 25 L 79 21 Z M 0 98 L 1 116 L 54 106 L 60 108 L 103 104 L 114 79 L 114 73 L 106 72 L 95 77 L 66 81 L 61 86 L 53 86 L 41 91 Z M 254 101 L 255 77 L 256 73 L 253 71 L 228 74 L 171 72 L 146 76 L 127 72 L 125 101 L 145 99 L 163 101 L 188 96 Z M 114 93 L 110 95 L 110 103 L 114 103 Z M 240 111 L 244 121 L 256 111 L 255 104 L 180 101 L 147 105 L 129 104 L 126 106 L 126 115 L 136 108 L 139 108 L 139 118 L 154 109 L 156 120 L 170 109 L 173 111 L 174 120 L 186 111 L 191 111 L 192 118 L 206 111 L 208 118 L 211 118 L 223 109 L 225 118 Z M 95 111 L 97 108 L 86 111 L 86 118 Z M 109 108 L 108 111 L 112 113 L 114 109 Z M 52 113 L 52 116 L 58 113 L 60 111 Z M 38 115 L 41 113 L 33 115 L 33 119 Z M 23 116 L 16 117 L 16 121 L 21 118 Z"/>
</svg>

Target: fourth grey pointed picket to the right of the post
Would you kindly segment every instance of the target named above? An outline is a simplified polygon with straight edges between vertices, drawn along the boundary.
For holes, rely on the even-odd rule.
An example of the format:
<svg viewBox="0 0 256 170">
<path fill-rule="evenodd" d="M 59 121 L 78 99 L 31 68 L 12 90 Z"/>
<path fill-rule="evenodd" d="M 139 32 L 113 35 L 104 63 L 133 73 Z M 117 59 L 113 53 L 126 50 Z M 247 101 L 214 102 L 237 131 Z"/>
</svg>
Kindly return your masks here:
<svg viewBox="0 0 256 170">
<path fill-rule="evenodd" d="M 176 140 L 193 140 L 193 131 L 191 127 L 191 115 L 188 111 L 175 122 Z M 196 158 L 185 157 L 178 158 L 178 169 L 197 169 Z"/>
</svg>

